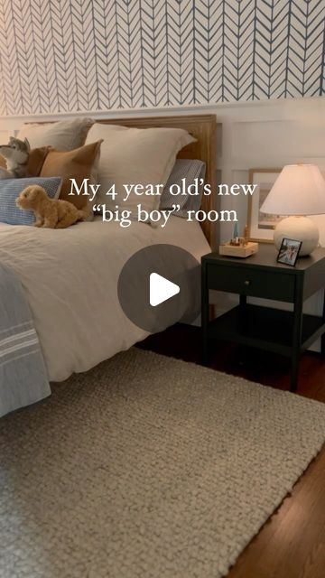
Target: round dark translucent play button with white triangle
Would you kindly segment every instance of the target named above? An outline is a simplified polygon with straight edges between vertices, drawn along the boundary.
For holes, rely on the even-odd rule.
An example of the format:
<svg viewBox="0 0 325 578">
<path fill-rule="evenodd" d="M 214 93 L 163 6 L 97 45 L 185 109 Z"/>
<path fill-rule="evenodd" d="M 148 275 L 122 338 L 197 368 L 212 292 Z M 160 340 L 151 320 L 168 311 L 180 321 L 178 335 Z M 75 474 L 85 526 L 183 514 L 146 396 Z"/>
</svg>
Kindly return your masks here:
<svg viewBox="0 0 325 578">
<path fill-rule="evenodd" d="M 174 245 L 144 247 L 125 262 L 117 295 L 126 317 L 149 333 L 191 323 L 200 315 L 200 263 Z"/>
</svg>

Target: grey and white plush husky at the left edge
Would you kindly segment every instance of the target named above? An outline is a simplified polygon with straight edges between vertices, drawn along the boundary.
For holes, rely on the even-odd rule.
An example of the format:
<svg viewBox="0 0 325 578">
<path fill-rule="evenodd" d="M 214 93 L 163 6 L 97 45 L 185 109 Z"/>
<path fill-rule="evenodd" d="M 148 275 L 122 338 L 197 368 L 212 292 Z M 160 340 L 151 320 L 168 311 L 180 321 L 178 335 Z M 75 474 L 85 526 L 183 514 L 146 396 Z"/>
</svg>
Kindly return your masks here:
<svg viewBox="0 0 325 578">
<path fill-rule="evenodd" d="M 25 138 L 11 136 L 8 144 L 0 145 L 0 154 L 5 159 L 6 169 L 0 167 L 0 179 L 18 179 L 27 176 L 30 144 Z"/>
</svg>

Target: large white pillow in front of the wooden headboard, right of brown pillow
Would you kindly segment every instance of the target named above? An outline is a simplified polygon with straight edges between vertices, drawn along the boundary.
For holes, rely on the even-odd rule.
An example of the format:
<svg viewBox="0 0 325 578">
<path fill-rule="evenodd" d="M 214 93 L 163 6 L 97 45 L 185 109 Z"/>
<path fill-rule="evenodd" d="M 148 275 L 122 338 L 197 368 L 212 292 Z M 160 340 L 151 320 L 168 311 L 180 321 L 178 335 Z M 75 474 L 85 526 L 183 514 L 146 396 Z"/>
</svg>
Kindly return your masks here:
<svg viewBox="0 0 325 578">
<path fill-rule="evenodd" d="M 136 206 L 144 210 L 158 209 L 160 196 L 137 195 L 131 191 L 125 198 L 124 184 L 166 184 L 176 155 L 193 138 L 181 128 L 129 128 L 127 126 L 91 126 L 86 144 L 104 140 L 101 144 L 98 164 L 98 191 L 96 201 L 105 203 L 107 209 L 127 209 L 132 216 L 137 214 Z M 106 195 L 110 187 L 116 185 L 116 199 Z"/>
</svg>

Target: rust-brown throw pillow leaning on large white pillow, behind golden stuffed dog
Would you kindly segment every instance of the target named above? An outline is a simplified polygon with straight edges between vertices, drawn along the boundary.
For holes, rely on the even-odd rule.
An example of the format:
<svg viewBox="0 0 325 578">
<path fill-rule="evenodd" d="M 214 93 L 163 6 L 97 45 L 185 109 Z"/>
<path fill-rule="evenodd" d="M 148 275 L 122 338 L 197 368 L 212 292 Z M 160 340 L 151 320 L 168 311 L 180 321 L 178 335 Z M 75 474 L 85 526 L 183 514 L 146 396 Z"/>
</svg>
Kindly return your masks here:
<svg viewBox="0 0 325 578">
<path fill-rule="evenodd" d="M 60 190 L 60 199 L 70 200 L 78 209 L 84 207 L 88 202 L 87 196 L 69 195 L 71 191 L 70 179 L 75 179 L 78 186 L 82 186 L 84 179 L 93 182 L 94 174 L 97 171 L 97 163 L 100 154 L 99 140 L 97 143 L 80 146 L 74 151 L 57 151 L 50 149 L 42 165 L 42 177 L 60 176 L 63 180 Z"/>
</svg>

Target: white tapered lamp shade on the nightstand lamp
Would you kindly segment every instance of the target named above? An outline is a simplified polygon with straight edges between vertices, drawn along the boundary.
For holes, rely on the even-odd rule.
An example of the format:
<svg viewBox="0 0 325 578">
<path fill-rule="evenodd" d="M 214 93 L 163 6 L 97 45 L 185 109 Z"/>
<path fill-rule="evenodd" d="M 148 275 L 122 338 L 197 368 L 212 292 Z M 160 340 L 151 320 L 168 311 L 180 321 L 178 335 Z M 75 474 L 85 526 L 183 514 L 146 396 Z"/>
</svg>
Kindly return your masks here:
<svg viewBox="0 0 325 578">
<path fill-rule="evenodd" d="M 284 166 L 260 210 L 271 215 L 325 213 L 325 181 L 318 166 Z"/>
</svg>

